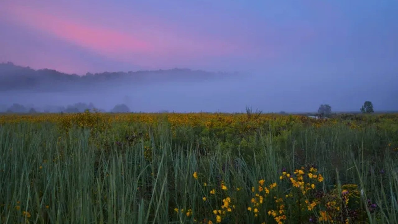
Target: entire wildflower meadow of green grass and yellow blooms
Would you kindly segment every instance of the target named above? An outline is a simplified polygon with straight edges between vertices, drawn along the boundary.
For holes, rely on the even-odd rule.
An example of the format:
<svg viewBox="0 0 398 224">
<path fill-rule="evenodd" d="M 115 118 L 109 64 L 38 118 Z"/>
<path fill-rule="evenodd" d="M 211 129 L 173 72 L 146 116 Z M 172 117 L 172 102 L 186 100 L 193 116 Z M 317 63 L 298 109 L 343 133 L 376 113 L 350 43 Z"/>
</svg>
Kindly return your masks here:
<svg viewBox="0 0 398 224">
<path fill-rule="evenodd" d="M 0 223 L 398 223 L 398 114 L 0 115 Z"/>
</svg>

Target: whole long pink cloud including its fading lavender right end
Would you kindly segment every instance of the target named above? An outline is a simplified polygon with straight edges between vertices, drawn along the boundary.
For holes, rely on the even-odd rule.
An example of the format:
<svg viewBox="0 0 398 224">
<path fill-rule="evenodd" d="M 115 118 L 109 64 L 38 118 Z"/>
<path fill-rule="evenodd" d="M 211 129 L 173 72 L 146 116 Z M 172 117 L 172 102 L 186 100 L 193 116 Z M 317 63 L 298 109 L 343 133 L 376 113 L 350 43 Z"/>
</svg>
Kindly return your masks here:
<svg viewBox="0 0 398 224">
<path fill-rule="evenodd" d="M 99 55 L 142 66 L 153 66 L 154 61 L 155 64 L 162 66 L 179 65 L 180 62 L 193 61 L 197 58 L 225 56 L 249 50 L 249 47 L 241 41 L 228 43 L 225 39 L 207 35 L 181 35 L 178 30 L 167 30 L 165 24 L 157 24 L 162 30 L 152 31 L 136 27 L 136 22 L 132 26 L 126 26 L 128 29 L 122 32 L 97 24 L 93 26 L 82 19 L 73 20 L 55 16 L 57 14 L 54 11 L 50 13 L 48 9 L 45 11 L 12 4 L 7 7 L 8 13 L 11 14 L 9 19 L 18 24 L 44 31 Z M 156 21 L 153 20 L 151 23 Z"/>
</svg>

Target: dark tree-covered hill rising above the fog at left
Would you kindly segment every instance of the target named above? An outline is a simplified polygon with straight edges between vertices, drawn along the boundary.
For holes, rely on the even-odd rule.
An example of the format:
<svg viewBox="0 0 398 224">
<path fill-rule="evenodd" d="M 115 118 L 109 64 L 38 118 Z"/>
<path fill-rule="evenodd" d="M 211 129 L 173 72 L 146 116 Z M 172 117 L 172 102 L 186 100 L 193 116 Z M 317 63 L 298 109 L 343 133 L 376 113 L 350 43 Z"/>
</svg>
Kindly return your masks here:
<svg viewBox="0 0 398 224">
<path fill-rule="evenodd" d="M 0 92 L 10 90 L 33 90 L 35 92 L 90 89 L 118 84 L 145 84 L 158 82 L 198 82 L 225 77 L 226 73 L 168 69 L 136 72 L 66 74 L 53 69 L 34 70 L 13 63 L 0 63 Z"/>
</svg>

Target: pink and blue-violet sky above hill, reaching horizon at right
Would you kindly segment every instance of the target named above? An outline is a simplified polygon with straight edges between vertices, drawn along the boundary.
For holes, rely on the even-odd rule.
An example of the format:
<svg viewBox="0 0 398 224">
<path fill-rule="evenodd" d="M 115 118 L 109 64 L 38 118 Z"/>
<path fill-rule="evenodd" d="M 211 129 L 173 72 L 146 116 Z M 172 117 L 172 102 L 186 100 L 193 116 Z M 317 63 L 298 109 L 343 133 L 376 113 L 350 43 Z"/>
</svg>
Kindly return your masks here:
<svg viewBox="0 0 398 224">
<path fill-rule="evenodd" d="M 396 12 L 395 0 L 2 0 L 0 62 L 80 75 L 238 71 L 252 77 L 228 89 L 261 108 L 397 110 Z"/>
</svg>

